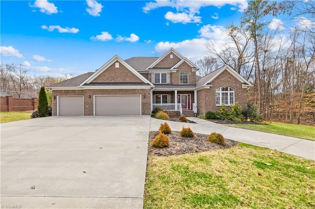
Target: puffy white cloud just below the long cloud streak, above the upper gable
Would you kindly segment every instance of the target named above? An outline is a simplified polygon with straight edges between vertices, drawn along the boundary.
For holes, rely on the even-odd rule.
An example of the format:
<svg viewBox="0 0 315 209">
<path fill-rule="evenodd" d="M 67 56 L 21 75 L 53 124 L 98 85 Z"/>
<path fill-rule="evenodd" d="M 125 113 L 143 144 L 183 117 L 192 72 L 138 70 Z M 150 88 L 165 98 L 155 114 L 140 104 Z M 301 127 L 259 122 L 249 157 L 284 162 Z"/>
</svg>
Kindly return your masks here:
<svg viewBox="0 0 315 209">
<path fill-rule="evenodd" d="M 195 16 L 195 13 L 173 13 L 173 12 L 167 12 L 164 15 L 166 20 L 171 21 L 172 23 L 201 23 L 201 17 Z"/>
</svg>

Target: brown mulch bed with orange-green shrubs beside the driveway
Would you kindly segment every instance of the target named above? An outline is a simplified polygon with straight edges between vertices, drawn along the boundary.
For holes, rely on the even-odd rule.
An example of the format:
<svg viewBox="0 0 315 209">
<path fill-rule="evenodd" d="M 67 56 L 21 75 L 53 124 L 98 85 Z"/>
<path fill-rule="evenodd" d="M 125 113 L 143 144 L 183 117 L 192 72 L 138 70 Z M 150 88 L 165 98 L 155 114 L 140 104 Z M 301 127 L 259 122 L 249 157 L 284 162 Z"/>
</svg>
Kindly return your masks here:
<svg viewBox="0 0 315 209">
<path fill-rule="evenodd" d="M 151 146 L 151 141 L 158 135 L 158 131 L 152 131 L 149 134 L 149 156 L 173 156 L 187 153 L 200 153 L 211 150 L 227 149 L 238 144 L 237 141 L 225 139 L 224 145 L 219 145 L 207 141 L 208 135 L 195 133 L 192 138 L 181 137 L 179 131 L 172 131 L 166 134 L 169 138 L 169 146 L 165 148 L 155 148 Z"/>
</svg>

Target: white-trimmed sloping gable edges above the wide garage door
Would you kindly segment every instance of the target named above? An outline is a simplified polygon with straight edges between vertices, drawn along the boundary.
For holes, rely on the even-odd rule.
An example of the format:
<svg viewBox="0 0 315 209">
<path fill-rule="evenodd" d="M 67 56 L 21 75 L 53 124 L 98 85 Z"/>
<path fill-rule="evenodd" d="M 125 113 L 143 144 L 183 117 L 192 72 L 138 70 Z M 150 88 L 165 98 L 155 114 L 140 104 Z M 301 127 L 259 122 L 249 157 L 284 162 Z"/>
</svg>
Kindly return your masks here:
<svg viewBox="0 0 315 209">
<path fill-rule="evenodd" d="M 80 86 L 82 86 L 84 84 L 91 83 L 91 82 L 100 82 L 100 76 L 104 73 L 104 71 L 106 73 L 107 69 L 111 69 L 110 68 L 111 66 L 115 68 L 114 65 L 115 65 L 116 62 L 120 63 L 120 65 L 123 65 L 126 68 L 126 70 L 130 71 L 130 73 L 132 73 L 132 76 L 134 76 L 135 79 L 139 78 L 138 80 L 134 80 L 135 82 L 142 81 L 142 82 L 144 82 L 146 84 L 153 85 L 149 80 L 147 80 L 146 78 L 141 76 L 140 73 L 138 73 L 130 65 L 128 65 L 122 58 L 120 58 L 118 55 L 115 55 L 108 62 L 106 62 L 102 67 L 100 67 L 98 70 L 96 70 L 93 75 L 91 75 L 84 82 L 82 82 L 80 84 Z M 103 75 L 105 75 L 105 74 L 103 74 Z M 119 76 L 116 76 L 116 77 L 118 78 Z M 110 78 L 109 77 L 105 77 L 105 79 L 110 79 Z M 105 82 L 108 82 L 108 81 L 109 80 L 105 80 Z M 111 80 L 111 82 L 122 82 L 122 81 L 121 80 L 117 80 L 117 81 L 116 80 Z M 130 82 L 130 80 L 126 80 L 125 82 Z"/>
</svg>

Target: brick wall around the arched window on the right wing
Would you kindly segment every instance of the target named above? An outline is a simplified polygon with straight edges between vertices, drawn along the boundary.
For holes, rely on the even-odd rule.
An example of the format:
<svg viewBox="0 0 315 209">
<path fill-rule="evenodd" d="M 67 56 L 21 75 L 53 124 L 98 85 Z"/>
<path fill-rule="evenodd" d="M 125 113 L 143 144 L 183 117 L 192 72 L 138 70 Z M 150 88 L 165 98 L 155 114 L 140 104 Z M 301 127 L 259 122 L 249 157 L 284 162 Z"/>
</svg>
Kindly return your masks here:
<svg viewBox="0 0 315 209">
<path fill-rule="evenodd" d="M 222 86 L 233 88 L 235 102 L 238 102 L 243 108 L 246 107 L 248 99 L 247 89 L 242 88 L 242 83 L 227 70 L 223 71 L 211 84 L 212 86 L 209 89 L 197 91 L 198 114 L 205 115 L 207 111 L 216 112 L 220 109 L 220 106 L 216 106 L 216 89 Z"/>
</svg>

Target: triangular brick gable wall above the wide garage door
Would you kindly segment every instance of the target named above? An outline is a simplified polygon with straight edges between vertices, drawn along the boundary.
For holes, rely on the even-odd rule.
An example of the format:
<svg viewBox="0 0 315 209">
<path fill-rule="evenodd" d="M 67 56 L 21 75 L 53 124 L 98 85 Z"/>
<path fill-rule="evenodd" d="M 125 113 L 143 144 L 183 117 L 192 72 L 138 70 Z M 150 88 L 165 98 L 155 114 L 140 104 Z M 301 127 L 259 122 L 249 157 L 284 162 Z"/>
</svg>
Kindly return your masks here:
<svg viewBox="0 0 315 209">
<path fill-rule="evenodd" d="M 118 62 L 118 61 L 116 61 Z M 140 78 L 130 72 L 122 63 L 115 68 L 115 63 L 97 76 L 93 82 L 143 82 Z"/>
</svg>

